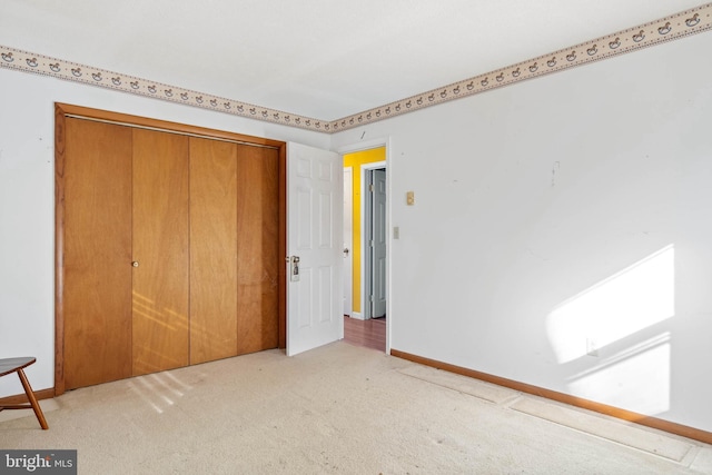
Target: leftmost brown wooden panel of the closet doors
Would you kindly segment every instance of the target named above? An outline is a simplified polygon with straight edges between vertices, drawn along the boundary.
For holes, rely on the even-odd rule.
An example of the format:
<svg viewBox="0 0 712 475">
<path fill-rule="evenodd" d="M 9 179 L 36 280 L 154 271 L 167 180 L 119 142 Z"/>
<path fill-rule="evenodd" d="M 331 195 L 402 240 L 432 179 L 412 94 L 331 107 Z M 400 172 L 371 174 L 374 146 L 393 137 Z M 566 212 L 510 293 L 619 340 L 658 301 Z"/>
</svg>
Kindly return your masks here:
<svg viewBox="0 0 712 475">
<path fill-rule="evenodd" d="M 66 119 L 65 387 L 131 376 L 131 129 Z"/>
</svg>

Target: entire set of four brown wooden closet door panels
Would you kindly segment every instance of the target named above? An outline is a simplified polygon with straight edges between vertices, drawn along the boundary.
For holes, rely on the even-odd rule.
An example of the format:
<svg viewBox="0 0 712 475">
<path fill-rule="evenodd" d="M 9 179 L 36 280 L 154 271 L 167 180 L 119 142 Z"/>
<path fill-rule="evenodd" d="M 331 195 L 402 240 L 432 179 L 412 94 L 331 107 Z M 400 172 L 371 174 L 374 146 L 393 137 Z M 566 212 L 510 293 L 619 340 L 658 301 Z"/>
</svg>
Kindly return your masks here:
<svg viewBox="0 0 712 475">
<path fill-rule="evenodd" d="M 276 348 L 279 150 L 63 120 L 62 390 Z"/>
</svg>

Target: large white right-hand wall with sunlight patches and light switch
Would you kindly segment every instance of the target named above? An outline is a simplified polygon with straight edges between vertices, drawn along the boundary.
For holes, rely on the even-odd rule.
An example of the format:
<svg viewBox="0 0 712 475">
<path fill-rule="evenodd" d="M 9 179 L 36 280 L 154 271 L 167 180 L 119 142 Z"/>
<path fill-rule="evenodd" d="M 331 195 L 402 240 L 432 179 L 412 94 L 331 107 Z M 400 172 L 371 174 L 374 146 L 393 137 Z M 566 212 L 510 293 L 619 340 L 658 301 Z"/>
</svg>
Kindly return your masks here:
<svg viewBox="0 0 712 475">
<path fill-rule="evenodd" d="M 392 347 L 712 431 L 711 48 L 335 135 L 390 139 Z"/>
</svg>

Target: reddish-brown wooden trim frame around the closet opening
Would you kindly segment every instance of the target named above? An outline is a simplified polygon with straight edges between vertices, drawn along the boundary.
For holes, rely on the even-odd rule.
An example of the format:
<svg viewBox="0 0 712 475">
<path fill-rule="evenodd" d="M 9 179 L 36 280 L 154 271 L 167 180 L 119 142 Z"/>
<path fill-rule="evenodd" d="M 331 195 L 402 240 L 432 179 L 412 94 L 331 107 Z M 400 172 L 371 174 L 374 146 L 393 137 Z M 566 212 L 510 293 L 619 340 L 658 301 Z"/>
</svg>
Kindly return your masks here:
<svg viewBox="0 0 712 475">
<path fill-rule="evenodd" d="M 286 142 L 246 136 L 222 130 L 208 129 L 186 123 L 170 122 L 140 116 L 111 112 L 67 103 L 55 103 L 55 395 L 65 393 L 65 311 L 63 311 L 63 243 L 65 243 L 65 155 L 67 117 L 107 121 L 130 127 L 148 128 L 174 133 L 227 140 L 257 147 L 275 148 L 279 152 L 278 208 L 279 243 L 278 258 L 287 255 L 287 145 Z M 286 266 L 277 263 L 279 348 L 287 343 Z"/>
</svg>

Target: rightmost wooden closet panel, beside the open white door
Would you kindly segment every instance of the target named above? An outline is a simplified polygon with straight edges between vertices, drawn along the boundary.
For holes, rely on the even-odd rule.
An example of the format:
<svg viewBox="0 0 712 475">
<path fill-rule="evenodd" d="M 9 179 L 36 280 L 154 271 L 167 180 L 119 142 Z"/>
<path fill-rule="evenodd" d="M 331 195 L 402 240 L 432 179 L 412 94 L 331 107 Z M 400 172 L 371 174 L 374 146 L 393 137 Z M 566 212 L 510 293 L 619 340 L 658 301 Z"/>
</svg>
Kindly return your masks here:
<svg viewBox="0 0 712 475">
<path fill-rule="evenodd" d="M 278 345 L 278 157 L 275 149 L 238 146 L 238 354 Z"/>
</svg>

